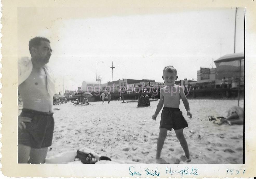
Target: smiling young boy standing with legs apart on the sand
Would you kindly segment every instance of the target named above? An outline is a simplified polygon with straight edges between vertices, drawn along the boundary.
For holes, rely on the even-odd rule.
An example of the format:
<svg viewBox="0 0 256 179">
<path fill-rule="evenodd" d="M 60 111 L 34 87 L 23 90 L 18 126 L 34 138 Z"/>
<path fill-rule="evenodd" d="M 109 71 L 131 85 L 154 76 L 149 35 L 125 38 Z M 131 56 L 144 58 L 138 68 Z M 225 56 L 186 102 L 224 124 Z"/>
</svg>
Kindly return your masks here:
<svg viewBox="0 0 256 179">
<path fill-rule="evenodd" d="M 157 105 L 156 112 L 152 116 L 152 119 L 155 121 L 164 104 L 164 109 L 161 114 L 159 137 L 157 140 L 156 159 L 160 159 L 167 130 L 171 131 L 173 128 L 176 133 L 176 137 L 178 138 L 180 145 L 187 157 L 186 162 L 190 162 L 191 160 L 187 147 L 187 141 L 183 134 L 183 128 L 188 127 L 188 125 L 187 121 L 182 115 L 182 112 L 179 110 L 180 98 L 182 99 L 187 110 L 187 115 L 189 118 L 191 118 L 192 114 L 189 110 L 189 104 L 184 93 L 184 89 L 181 86 L 174 84 L 178 76 L 177 70 L 173 66 L 167 66 L 164 68 L 162 78 L 166 86 L 160 89 L 160 100 Z"/>
</svg>

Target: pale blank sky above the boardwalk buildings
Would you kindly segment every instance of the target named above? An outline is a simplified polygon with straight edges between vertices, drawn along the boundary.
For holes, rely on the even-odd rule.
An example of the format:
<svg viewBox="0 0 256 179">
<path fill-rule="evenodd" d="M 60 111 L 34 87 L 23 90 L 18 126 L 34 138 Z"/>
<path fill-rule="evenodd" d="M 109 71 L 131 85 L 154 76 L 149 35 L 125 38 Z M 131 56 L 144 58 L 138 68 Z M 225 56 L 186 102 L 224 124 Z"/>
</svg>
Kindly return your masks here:
<svg viewBox="0 0 256 179">
<path fill-rule="evenodd" d="M 125 11 L 125 10 L 124 10 Z M 100 13 L 99 13 L 100 14 Z M 197 79 L 200 67 L 234 53 L 235 8 L 168 9 L 101 13 L 72 8 L 19 8 L 18 54 L 30 56 L 35 36 L 51 41 L 49 66 L 57 90 L 76 90 L 83 81 L 102 83 L 119 78 L 163 82 L 166 65 L 177 68 L 178 80 Z M 238 8 L 236 52 L 244 51 L 244 8 Z M 102 63 L 103 62 L 103 63 Z"/>
</svg>

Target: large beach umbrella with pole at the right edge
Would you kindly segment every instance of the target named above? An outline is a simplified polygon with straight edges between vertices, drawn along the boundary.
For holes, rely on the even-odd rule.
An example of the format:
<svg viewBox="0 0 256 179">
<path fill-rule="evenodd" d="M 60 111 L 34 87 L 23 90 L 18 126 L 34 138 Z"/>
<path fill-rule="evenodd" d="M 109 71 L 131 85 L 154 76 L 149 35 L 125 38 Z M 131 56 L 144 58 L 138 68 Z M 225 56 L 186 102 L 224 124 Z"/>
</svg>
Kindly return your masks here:
<svg viewBox="0 0 256 179">
<path fill-rule="evenodd" d="M 240 99 L 241 71 L 244 72 L 244 53 L 227 54 L 214 61 L 217 73 L 239 72 L 238 106 Z"/>
</svg>

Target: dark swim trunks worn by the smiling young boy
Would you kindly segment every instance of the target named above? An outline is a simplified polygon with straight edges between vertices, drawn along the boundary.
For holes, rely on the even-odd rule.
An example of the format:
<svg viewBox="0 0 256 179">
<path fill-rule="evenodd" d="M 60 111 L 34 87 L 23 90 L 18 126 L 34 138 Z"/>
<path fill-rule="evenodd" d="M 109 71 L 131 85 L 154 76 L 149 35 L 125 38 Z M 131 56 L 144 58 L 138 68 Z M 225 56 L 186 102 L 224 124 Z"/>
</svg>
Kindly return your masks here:
<svg viewBox="0 0 256 179">
<path fill-rule="evenodd" d="M 187 121 L 182 115 L 179 108 L 167 108 L 164 107 L 161 114 L 160 128 L 167 130 L 178 130 L 188 127 Z"/>
</svg>

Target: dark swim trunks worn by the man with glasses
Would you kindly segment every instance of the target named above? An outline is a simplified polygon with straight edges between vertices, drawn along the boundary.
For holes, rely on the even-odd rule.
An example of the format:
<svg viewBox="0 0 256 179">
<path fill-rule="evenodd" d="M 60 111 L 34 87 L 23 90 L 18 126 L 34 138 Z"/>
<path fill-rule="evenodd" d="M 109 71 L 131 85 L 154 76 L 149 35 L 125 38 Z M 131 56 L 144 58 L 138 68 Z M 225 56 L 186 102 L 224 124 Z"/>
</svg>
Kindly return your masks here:
<svg viewBox="0 0 256 179">
<path fill-rule="evenodd" d="M 54 129 L 53 113 L 22 109 L 22 117 L 31 118 L 25 122 L 26 129 L 18 127 L 18 143 L 32 148 L 43 148 L 52 145 Z"/>
</svg>

